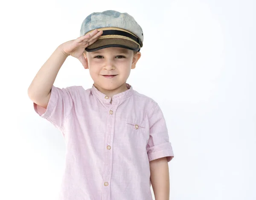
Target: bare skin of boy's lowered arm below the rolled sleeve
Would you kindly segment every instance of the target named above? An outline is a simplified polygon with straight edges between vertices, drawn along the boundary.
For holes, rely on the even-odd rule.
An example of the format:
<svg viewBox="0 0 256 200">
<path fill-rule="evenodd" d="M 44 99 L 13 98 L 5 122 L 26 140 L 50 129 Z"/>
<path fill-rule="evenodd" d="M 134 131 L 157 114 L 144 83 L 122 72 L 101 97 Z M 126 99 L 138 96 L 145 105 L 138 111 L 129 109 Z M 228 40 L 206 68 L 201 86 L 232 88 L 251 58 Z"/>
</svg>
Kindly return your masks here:
<svg viewBox="0 0 256 200">
<path fill-rule="evenodd" d="M 169 166 L 166 157 L 150 161 L 149 164 L 155 200 L 169 200 Z"/>
</svg>

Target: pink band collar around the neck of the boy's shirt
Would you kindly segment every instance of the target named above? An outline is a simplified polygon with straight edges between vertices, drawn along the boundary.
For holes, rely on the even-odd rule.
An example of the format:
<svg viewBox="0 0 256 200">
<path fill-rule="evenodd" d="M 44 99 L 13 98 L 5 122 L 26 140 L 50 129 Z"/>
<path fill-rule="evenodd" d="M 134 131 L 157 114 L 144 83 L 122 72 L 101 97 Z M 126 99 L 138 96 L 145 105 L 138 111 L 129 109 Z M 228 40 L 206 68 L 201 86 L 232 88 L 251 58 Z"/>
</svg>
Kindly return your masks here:
<svg viewBox="0 0 256 200">
<path fill-rule="evenodd" d="M 131 85 L 129 85 L 128 83 L 126 83 L 126 87 L 128 88 L 128 90 L 125 90 L 122 93 L 118 93 L 116 95 L 114 95 L 112 97 L 112 101 L 116 101 L 116 100 L 120 100 L 120 99 L 125 99 L 128 96 L 131 96 L 134 92 L 133 88 Z M 100 92 L 94 85 L 92 86 L 91 89 L 93 95 L 95 95 L 98 99 L 106 102 L 106 103 L 110 103 L 111 98 L 106 96 L 104 93 Z"/>
</svg>

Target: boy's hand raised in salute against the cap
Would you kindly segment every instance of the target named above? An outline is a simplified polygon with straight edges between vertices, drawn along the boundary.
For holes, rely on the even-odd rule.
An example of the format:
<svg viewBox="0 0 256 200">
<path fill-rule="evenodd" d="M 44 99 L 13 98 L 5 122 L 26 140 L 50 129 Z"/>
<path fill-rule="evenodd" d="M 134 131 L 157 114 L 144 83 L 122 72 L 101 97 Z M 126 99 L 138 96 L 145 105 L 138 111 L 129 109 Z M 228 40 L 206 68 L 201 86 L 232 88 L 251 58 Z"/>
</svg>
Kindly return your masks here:
<svg viewBox="0 0 256 200">
<path fill-rule="evenodd" d="M 73 56 L 79 59 L 84 68 L 88 68 L 87 62 L 83 55 L 84 49 L 96 42 L 102 33 L 103 31 L 98 32 L 98 30 L 95 29 L 90 34 L 85 34 L 84 36 L 78 37 L 77 39 L 64 42 L 60 45 L 62 48 L 62 53 L 66 56 Z"/>
</svg>

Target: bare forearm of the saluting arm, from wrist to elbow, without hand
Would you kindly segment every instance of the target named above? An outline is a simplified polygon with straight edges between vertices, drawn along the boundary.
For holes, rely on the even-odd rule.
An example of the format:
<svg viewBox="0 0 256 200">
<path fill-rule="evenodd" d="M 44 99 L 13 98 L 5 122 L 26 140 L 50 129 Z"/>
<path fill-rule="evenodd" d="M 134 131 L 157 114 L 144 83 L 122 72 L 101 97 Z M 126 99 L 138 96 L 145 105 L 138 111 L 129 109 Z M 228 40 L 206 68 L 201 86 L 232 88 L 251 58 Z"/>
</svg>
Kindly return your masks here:
<svg viewBox="0 0 256 200">
<path fill-rule="evenodd" d="M 63 53 L 61 45 L 59 45 L 40 68 L 30 84 L 28 88 L 30 99 L 45 98 L 49 94 L 58 71 L 66 59 L 67 55 Z"/>
</svg>

